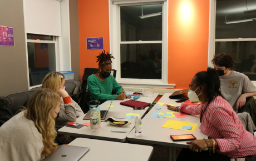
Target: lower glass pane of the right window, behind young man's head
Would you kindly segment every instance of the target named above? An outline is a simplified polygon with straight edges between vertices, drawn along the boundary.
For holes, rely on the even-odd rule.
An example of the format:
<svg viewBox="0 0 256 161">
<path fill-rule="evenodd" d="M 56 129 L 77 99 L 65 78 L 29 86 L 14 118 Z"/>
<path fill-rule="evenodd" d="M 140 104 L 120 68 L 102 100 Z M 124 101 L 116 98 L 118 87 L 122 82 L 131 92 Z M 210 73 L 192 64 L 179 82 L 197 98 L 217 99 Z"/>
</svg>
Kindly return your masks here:
<svg viewBox="0 0 256 161">
<path fill-rule="evenodd" d="M 215 54 L 228 53 L 234 58 L 234 71 L 256 80 L 256 41 L 216 42 Z"/>
</svg>

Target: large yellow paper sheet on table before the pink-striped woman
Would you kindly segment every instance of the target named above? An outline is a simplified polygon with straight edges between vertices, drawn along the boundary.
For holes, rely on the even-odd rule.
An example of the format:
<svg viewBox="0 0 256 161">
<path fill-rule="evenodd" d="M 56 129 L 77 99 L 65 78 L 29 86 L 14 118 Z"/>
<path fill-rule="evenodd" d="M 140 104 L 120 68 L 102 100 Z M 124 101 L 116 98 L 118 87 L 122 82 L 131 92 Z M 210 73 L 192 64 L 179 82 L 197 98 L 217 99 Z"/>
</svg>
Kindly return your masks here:
<svg viewBox="0 0 256 161">
<path fill-rule="evenodd" d="M 183 129 L 183 126 L 192 125 L 191 129 Z M 189 123 L 189 122 L 180 122 L 177 120 L 167 120 L 161 127 L 163 128 L 170 128 L 170 129 L 178 129 L 178 130 L 185 130 L 189 132 L 194 132 L 196 127 L 198 126 L 197 123 Z"/>
</svg>

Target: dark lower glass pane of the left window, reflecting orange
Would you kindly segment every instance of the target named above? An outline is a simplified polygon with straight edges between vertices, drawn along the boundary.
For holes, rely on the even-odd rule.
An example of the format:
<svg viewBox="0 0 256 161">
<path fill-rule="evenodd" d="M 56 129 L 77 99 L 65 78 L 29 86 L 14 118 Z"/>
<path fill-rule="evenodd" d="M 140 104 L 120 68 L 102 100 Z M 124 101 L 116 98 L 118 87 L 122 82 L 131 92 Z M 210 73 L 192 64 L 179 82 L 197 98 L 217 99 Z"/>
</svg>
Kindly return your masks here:
<svg viewBox="0 0 256 161">
<path fill-rule="evenodd" d="M 54 43 L 27 43 L 29 85 L 42 84 L 50 71 L 56 71 Z"/>
</svg>

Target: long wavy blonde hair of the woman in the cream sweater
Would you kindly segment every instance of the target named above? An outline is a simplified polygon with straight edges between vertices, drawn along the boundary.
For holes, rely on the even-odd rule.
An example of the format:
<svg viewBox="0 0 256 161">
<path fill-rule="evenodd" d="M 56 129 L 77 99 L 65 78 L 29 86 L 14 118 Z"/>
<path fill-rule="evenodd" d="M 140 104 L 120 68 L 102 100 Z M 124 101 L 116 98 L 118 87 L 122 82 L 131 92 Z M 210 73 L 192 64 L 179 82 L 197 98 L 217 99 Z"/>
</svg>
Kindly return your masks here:
<svg viewBox="0 0 256 161">
<path fill-rule="evenodd" d="M 57 135 L 54 115 L 60 102 L 60 95 L 53 90 L 39 89 L 32 94 L 27 110 L 24 112 L 24 116 L 32 120 L 38 132 L 42 134 L 43 151 L 41 157 L 47 157 L 57 145 L 54 142 Z"/>
</svg>

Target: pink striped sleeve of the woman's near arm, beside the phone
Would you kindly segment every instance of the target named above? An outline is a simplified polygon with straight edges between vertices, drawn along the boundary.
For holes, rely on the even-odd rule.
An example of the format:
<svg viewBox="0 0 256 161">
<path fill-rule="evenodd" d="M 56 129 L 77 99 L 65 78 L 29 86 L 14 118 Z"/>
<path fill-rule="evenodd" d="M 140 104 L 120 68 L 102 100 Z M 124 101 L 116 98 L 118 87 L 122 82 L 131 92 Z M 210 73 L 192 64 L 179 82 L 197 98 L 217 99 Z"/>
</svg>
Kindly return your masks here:
<svg viewBox="0 0 256 161">
<path fill-rule="evenodd" d="M 220 152 L 231 152 L 240 147 L 240 134 L 234 112 L 227 108 L 215 107 L 211 110 L 209 121 L 223 136 L 221 139 L 215 139 Z"/>
</svg>

